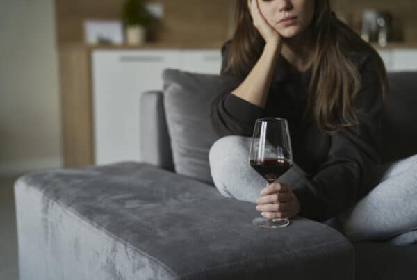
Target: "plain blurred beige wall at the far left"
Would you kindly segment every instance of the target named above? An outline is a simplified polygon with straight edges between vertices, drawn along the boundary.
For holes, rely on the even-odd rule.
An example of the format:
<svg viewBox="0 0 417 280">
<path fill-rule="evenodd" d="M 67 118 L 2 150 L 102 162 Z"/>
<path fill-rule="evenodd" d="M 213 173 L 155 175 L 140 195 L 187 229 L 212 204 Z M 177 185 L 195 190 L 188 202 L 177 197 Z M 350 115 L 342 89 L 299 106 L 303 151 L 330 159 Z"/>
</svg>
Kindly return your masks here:
<svg viewBox="0 0 417 280">
<path fill-rule="evenodd" d="M 54 0 L 0 5 L 0 175 L 60 167 Z"/>
</svg>

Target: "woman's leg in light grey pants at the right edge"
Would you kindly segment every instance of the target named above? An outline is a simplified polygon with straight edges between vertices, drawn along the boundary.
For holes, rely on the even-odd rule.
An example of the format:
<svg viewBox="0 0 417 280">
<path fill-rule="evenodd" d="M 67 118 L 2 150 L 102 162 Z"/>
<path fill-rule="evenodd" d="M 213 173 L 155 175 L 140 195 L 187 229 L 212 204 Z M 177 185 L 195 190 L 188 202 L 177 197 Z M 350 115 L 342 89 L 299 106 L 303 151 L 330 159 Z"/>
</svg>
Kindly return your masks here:
<svg viewBox="0 0 417 280">
<path fill-rule="evenodd" d="M 417 229 L 417 156 L 379 172 L 377 186 L 337 217 L 341 231 L 352 241 L 386 240 Z"/>
</svg>

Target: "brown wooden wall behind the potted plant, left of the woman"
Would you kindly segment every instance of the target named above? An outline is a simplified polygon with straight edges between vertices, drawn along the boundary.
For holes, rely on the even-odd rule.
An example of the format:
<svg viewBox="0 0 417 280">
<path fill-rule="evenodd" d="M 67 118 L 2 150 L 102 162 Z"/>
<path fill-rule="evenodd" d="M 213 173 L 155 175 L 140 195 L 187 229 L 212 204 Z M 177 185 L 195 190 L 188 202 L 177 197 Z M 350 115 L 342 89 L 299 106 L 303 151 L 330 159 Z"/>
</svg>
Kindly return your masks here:
<svg viewBox="0 0 417 280">
<path fill-rule="evenodd" d="M 58 45 L 83 42 L 85 19 L 120 19 L 123 0 L 56 0 Z M 234 0 L 150 0 L 162 3 L 164 17 L 156 40 L 223 42 L 231 32 Z"/>
</svg>

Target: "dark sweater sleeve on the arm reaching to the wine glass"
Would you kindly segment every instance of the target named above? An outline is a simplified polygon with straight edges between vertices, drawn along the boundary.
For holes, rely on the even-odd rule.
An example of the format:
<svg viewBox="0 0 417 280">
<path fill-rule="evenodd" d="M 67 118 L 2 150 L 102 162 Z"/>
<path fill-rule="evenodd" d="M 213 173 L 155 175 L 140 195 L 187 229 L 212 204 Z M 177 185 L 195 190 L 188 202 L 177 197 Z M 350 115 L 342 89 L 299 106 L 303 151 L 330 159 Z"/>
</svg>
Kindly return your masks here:
<svg viewBox="0 0 417 280">
<path fill-rule="evenodd" d="M 354 101 L 359 131 L 346 128 L 331 136 L 327 160 L 318 172 L 293 188 L 300 216 L 323 221 L 338 215 L 363 195 L 363 174 L 379 162 L 380 81 L 375 72 L 361 72 L 362 88 Z"/>
</svg>

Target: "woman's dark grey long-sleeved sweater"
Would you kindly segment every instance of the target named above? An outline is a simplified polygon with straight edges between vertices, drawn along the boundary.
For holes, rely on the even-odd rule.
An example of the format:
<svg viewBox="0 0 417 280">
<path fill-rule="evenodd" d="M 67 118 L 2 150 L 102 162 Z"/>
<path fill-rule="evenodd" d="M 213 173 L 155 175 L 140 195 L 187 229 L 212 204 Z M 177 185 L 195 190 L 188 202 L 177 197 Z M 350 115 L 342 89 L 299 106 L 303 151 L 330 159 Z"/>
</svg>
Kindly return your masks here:
<svg viewBox="0 0 417 280">
<path fill-rule="evenodd" d="M 359 133 L 353 128 L 329 135 L 318 129 L 310 117 L 304 120 L 306 90 L 311 68 L 300 75 L 290 74 L 288 62 L 279 56 L 265 109 L 234 94 L 245 77 L 225 73 L 229 44 L 222 47 L 223 63 L 218 97 L 213 101 L 211 121 L 220 136 L 252 136 L 259 117 L 283 117 L 288 120 L 293 147 L 293 160 L 306 172 L 306 177 L 291 186 L 300 200 L 299 215 L 323 221 L 334 217 L 369 192 L 364 175 L 379 162 L 379 122 L 382 94 L 377 75 L 370 70 L 368 54 L 350 55 L 357 65 L 362 87 L 354 101 Z M 335 65 L 343 67 L 343 65 Z M 326 77 L 322 77 L 326 79 Z M 249 163 L 248 163 L 249 164 Z"/>
</svg>

